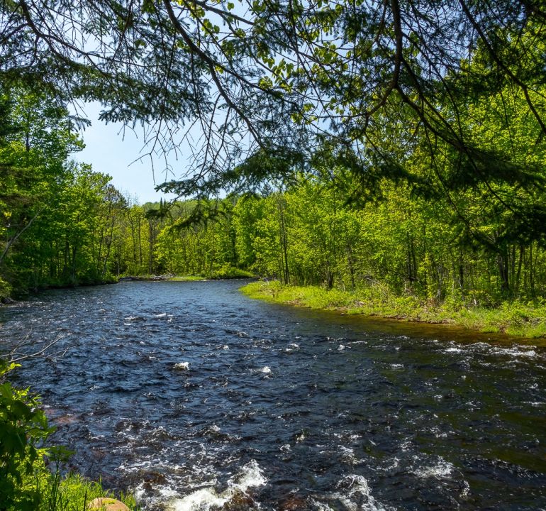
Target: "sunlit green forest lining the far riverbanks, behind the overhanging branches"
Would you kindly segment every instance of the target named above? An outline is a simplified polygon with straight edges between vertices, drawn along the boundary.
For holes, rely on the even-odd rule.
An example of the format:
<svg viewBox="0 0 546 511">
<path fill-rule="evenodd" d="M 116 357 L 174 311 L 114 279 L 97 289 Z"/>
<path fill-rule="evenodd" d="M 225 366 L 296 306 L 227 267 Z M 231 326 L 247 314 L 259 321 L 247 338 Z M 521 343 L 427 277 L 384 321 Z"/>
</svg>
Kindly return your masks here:
<svg viewBox="0 0 546 511">
<path fill-rule="evenodd" d="M 513 160 L 533 169 L 545 142 L 521 114 L 521 98 L 509 101 L 499 92 L 486 108 L 469 109 L 467 129 L 491 150 L 508 145 Z M 368 195 L 346 163 L 325 155 L 312 167 L 296 165 L 288 181 L 139 205 L 107 175 L 70 160 L 82 148 L 77 126 L 46 95 L 5 91 L 1 115 L 4 295 L 165 273 L 252 274 L 345 290 L 381 283 L 399 295 L 481 305 L 545 292 L 542 229 L 532 223 L 544 194 L 501 180 L 431 196 L 440 183 L 431 182 L 425 140 L 400 150 L 413 182 L 383 177 Z M 402 136 L 393 129 L 382 143 L 396 151 Z M 258 153 L 233 172 L 277 160 Z"/>
</svg>

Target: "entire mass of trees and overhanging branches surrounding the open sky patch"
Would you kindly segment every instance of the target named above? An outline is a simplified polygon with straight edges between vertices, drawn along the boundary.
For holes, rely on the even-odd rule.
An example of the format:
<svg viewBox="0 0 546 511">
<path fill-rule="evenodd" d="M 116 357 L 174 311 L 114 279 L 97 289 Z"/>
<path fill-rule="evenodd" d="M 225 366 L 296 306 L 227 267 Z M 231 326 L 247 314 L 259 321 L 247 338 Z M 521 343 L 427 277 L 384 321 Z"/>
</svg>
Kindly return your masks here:
<svg viewBox="0 0 546 511">
<path fill-rule="evenodd" d="M 40 5 L 2 8 L 2 295 L 162 273 L 545 295 L 539 3 Z M 71 160 L 87 101 L 160 153 L 199 128 L 176 200 Z"/>
</svg>

